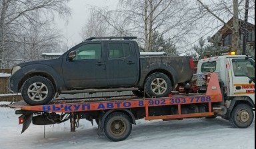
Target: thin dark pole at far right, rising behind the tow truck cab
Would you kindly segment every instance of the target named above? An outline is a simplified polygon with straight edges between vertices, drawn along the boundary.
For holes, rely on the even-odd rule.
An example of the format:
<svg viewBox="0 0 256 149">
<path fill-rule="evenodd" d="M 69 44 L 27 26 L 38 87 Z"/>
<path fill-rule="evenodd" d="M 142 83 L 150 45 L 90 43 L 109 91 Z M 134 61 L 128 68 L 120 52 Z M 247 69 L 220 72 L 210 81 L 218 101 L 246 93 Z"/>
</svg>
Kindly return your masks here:
<svg viewBox="0 0 256 149">
<path fill-rule="evenodd" d="M 248 22 L 248 13 L 249 13 L 249 0 L 245 0 L 245 22 L 243 23 L 243 52 L 242 52 L 242 55 L 246 54 L 246 41 L 247 41 L 246 25 Z"/>
</svg>

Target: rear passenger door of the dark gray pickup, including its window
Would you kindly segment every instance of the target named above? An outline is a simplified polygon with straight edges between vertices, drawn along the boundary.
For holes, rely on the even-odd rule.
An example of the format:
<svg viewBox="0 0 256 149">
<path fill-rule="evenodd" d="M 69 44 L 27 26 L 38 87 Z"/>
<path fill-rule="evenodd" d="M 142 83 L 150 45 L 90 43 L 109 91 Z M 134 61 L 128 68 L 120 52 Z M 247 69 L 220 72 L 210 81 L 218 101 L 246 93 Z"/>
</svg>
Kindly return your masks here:
<svg viewBox="0 0 256 149">
<path fill-rule="evenodd" d="M 134 86 L 139 72 L 139 55 L 129 41 L 107 43 L 107 85 Z"/>
</svg>

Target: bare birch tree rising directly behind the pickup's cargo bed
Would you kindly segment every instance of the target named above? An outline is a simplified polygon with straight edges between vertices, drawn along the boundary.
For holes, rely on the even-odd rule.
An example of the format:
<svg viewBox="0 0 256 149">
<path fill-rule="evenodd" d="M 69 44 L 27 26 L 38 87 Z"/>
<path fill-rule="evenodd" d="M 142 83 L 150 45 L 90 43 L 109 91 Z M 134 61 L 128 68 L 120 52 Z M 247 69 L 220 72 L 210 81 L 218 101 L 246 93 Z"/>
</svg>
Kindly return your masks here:
<svg viewBox="0 0 256 149">
<path fill-rule="evenodd" d="M 143 43 L 145 51 L 152 51 L 153 33 L 159 32 L 170 37 L 173 43 L 185 41 L 185 35 L 192 31 L 193 25 L 189 21 L 189 5 L 192 2 L 185 0 L 143 0 L 120 1 L 125 13 L 131 22 L 138 25 L 139 31 L 143 31 Z M 190 25 L 189 25 L 190 24 Z"/>
</svg>

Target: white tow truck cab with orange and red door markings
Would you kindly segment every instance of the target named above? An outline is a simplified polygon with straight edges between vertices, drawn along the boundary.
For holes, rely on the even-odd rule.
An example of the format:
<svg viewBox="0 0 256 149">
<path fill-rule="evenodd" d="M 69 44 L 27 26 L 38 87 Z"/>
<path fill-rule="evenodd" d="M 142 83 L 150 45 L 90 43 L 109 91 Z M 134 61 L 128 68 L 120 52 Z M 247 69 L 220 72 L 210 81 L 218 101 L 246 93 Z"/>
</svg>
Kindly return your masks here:
<svg viewBox="0 0 256 149">
<path fill-rule="evenodd" d="M 255 60 L 245 55 L 202 59 L 197 65 L 197 85 L 203 90 L 205 75 L 217 73 L 229 98 L 243 97 L 255 104 Z"/>
</svg>

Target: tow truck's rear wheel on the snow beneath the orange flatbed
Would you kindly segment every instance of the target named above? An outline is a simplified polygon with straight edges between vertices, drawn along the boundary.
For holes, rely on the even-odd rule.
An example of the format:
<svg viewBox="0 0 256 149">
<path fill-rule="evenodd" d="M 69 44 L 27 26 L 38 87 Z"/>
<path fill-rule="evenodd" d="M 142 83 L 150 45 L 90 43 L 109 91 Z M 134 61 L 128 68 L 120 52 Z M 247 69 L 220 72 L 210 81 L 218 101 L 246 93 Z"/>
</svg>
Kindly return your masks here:
<svg viewBox="0 0 256 149">
<path fill-rule="evenodd" d="M 131 119 L 122 112 L 113 112 L 104 122 L 104 134 L 109 140 L 122 141 L 131 134 Z"/>
</svg>

